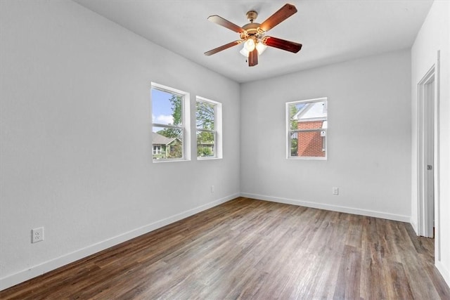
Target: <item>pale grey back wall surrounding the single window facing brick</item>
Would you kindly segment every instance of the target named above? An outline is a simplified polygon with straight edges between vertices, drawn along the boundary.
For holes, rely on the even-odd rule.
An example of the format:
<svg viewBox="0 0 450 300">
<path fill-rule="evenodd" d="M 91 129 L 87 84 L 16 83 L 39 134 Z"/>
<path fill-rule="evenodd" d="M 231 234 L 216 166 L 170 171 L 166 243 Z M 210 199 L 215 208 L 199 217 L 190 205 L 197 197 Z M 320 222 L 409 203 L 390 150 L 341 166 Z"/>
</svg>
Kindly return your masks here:
<svg viewBox="0 0 450 300">
<path fill-rule="evenodd" d="M 405 50 L 242 84 L 243 195 L 409 221 L 410 66 Z M 321 97 L 328 160 L 286 159 L 285 103 Z"/>
</svg>

